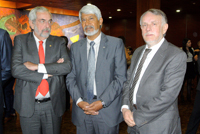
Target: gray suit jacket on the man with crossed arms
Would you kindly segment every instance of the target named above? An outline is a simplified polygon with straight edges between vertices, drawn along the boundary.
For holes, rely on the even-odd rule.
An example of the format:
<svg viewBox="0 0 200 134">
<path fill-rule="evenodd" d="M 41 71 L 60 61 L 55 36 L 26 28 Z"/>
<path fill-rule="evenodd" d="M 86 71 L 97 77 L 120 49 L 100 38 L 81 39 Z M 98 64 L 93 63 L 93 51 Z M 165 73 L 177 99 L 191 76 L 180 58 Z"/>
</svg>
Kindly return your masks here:
<svg viewBox="0 0 200 134">
<path fill-rule="evenodd" d="M 64 62 L 57 63 L 59 58 L 64 58 Z M 33 115 L 35 93 L 43 78 L 43 73 L 26 68 L 23 63 L 27 61 L 39 63 L 38 49 L 32 32 L 15 37 L 12 55 L 12 75 L 17 78 L 14 108 L 24 117 Z M 64 75 L 71 71 L 71 62 L 62 38 L 51 35 L 47 38 L 44 65 L 47 74 L 53 75 L 47 81 L 54 112 L 57 116 L 62 116 L 66 106 Z"/>
</svg>

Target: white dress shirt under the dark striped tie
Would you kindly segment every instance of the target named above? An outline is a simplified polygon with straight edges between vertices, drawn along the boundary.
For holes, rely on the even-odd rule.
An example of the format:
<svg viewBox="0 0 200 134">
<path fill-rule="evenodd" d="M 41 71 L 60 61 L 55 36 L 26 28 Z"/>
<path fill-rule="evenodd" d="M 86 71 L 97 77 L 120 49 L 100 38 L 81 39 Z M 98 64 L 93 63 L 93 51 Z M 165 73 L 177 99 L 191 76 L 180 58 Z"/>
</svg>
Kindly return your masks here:
<svg viewBox="0 0 200 134">
<path fill-rule="evenodd" d="M 138 79 L 138 81 L 137 81 L 137 83 L 135 85 L 135 89 L 133 90 L 133 104 L 137 104 L 136 94 L 137 94 L 137 91 L 138 91 L 138 88 L 139 88 L 139 85 L 140 85 L 141 78 L 144 75 L 144 72 L 147 69 L 147 67 L 148 67 L 149 63 L 151 62 L 151 60 L 153 59 L 154 55 L 156 54 L 156 52 L 158 51 L 158 49 L 160 48 L 160 46 L 164 42 L 164 40 L 165 40 L 165 38 L 162 38 L 161 41 L 158 44 L 156 44 L 156 45 L 154 45 L 154 46 L 152 46 L 152 47 L 149 48 L 149 49 L 151 49 L 151 52 L 147 55 L 147 58 L 146 58 L 146 60 L 145 60 L 145 62 L 143 64 L 143 67 L 142 67 L 139 79 Z M 146 44 L 146 48 L 148 48 L 147 44 Z M 138 60 L 138 63 L 137 63 L 137 66 L 136 66 L 136 71 L 137 71 L 138 65 L 140 63 L 140 60 L 142 59 L 142 56 L 144 54 L 145 49 L 143 50 L 143 52 L 142 52 L 142 54 L 140 56 L 140 59 Z M 136 71 L 135 71 L 135 73 L 136 73 Z M 133 77 L 135 77 L 135 74 L 134 74 Z M 132 85 L 131 85 L 131 87 L 132 87 Z M 129 106 L 128 105 L 123 105 L 122 108 L 121 108 L 121 110 L 123 108 L 129 109 Z"/>
</svg>

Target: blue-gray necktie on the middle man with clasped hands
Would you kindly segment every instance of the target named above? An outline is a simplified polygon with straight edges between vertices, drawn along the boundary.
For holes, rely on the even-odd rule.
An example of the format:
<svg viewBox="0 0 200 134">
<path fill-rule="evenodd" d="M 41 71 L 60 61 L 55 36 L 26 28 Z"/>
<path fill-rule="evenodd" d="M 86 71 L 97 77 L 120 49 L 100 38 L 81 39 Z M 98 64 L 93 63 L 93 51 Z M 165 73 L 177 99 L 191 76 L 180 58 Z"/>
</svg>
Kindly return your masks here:
<svg viewBox="0 0 200 134">
<path fill-rule="evenodd" d="M 90 42 L 90 50 L 88 55 L 88 74 L 87 74 L 87 97 L 91 101 L 94 97 L 94 77 L 95 77 L 95 51 L 94 41 Z"/>
</svg>

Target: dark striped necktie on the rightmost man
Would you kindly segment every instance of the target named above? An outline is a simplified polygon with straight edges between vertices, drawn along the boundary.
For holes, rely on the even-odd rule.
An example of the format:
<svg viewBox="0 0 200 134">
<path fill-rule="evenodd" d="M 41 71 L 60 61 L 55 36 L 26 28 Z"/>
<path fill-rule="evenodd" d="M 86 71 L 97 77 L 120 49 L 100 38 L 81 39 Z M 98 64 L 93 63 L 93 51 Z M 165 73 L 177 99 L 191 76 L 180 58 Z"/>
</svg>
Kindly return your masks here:
<svg viewBox="0 0 200 134">
<path fill-rule="evenodd" d="M 140 63 L 138 65 L 138 68 L 137 68 L 137 71 L 135 73 L 135 77 L 134 77 L 134 80 L 133 80 L 133 84 L 132 84 L 132 87 L 130 89 L 130 93 L 129 93 L 129 100 L 130 100 L 130 110 L 132 111 L 133 110 L 133 91 L 134 91 L 134 88 L 135 88 L 135 85 L 137 84 L 137 81 L 140 77 L 140 73 L 142 71 L 142 67 L 144 65 L 144 62 L 147 58 L 147 55 L 149 54 L 149 52 L 151 51 L 151 49 L 146 49 L 143 56 L 142 56 L 142 59 L 140 60 Z"/>
</svg>

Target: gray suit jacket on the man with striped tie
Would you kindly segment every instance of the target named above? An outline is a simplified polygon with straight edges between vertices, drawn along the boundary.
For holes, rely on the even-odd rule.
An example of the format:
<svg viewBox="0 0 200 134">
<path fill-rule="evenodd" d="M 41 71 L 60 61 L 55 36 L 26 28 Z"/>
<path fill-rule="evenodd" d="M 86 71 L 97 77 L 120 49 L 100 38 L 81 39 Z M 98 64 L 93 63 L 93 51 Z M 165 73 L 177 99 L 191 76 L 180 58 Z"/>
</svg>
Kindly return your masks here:
<svg viewBox="0 0 200 134">
<path fill-rule="evenodd" d="M 144 49 L 145 46 L 139 47 L 132 56 L 122 105 L 130 105 L 129 89 Z M 140 134 L 181 133 L 177 96 L 186 71 L 186 59 L 181 49 L 165 40 L 149 63 L 136 95 L 137 110 L 133 110 L 134 128 Z"/>
</svg>

